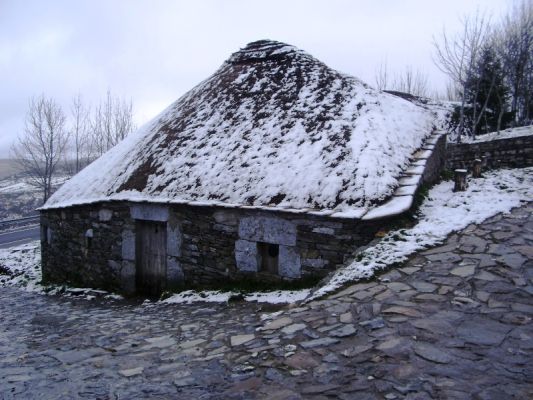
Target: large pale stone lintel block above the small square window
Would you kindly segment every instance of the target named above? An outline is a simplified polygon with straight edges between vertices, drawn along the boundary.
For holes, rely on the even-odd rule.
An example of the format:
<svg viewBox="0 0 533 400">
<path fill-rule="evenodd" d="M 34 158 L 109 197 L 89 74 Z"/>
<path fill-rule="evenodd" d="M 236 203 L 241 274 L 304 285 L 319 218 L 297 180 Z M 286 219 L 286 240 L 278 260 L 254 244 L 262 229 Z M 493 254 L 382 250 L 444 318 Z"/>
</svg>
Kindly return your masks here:
<svg viewBox="0 0 533 400">
<path fill-rule="evenodd" d="M 296 225 L 277 217 L 245 217 L 239 223 L 239 238 L 284 246 L 296 245 Z"/>
</svg>

